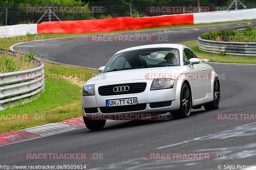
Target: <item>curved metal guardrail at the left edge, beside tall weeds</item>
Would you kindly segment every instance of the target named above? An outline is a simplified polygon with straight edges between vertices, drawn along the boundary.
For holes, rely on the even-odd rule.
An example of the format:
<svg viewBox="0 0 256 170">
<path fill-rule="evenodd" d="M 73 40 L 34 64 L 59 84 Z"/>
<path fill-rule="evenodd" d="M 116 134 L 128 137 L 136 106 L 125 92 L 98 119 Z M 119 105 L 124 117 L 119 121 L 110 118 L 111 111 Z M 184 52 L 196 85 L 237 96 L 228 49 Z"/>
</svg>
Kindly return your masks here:
<svg viewBox="0 0 256 170">
<path fill-rule="evenodd" d="M 6 51 L 6 53 L 10 53 L 10 51 Z M 0 110 L 30 102 L 43 90 L 43 63 L 39 67 L 28 70 L 2 73 L 0 74 Z"/>
</svg>

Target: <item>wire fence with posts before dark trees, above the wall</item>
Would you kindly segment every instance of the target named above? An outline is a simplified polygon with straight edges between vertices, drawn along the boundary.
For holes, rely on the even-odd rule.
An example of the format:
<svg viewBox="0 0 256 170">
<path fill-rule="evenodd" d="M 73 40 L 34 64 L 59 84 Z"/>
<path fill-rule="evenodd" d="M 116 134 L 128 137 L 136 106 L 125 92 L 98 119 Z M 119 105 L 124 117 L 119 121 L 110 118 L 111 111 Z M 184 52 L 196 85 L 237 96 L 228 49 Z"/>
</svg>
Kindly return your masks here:
<svg viewBox="0 0 256 170">
<path fill-rule="evenodd" d="M 145 17 L 166 14 L 256 8 L 255 0 L 107 0 L 90 2 L 12 3 L 0 1 L 0 25 L 44 21 L 115 17 Z"/>
</svg>

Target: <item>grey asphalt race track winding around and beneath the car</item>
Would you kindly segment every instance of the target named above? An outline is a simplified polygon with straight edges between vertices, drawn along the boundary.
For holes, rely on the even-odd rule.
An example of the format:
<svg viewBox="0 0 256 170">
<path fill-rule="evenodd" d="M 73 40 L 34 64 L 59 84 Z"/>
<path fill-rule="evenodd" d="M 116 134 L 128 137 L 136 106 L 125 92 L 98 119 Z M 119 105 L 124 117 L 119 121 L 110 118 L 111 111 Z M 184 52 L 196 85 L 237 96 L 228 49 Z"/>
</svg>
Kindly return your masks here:
<svg viewBox="0 0 256 170">
<path fill-rule="evenodd" d="M 169 42 L 195 40 L 217 28 L 246 23 L 123 34 L 168 35 Z M 250 22 L 255 25 L 256 22 Z M 159 42 L 150 42 L 159 43 Z M 163 42 L 160 42 L 163 43 Z M 15 50 L 34 50 L 39 57 L 98 68 L 118 50 L 148 42 L 88 42 L 87 36 L 29 42 Z M 2 165 L 86 165 L 88 169 L 212 169 L 218 165 L 256 165 L 256 122 L 215 120 L 217 113 L 255 113 L 256 65 L 210 63 L 220 80 L 220 109 L 192 110 L 189 118 L 170 121 L 110 121 L 101 131 L 80 128 L 52 136 L 0 146 Z M 23 153 L 103 153 L 103 159 L 24 160 Z M 211 160 L 148 160 L 147 153 L 213 153 Z M 224 157 L 216 159 L 217 155 Z M 225 155 L 227 155 L 225 157 Z M 240 169 L 240 168 L 238 168 Z"/>
</svg>

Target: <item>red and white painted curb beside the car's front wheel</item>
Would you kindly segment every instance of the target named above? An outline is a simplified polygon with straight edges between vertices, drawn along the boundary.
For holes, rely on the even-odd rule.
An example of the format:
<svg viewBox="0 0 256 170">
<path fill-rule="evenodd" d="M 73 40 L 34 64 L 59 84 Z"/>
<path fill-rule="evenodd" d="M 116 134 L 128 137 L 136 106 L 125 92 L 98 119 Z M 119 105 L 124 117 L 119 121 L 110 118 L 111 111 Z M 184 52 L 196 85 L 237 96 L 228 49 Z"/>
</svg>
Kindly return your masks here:
<svg viewBox="0 0 256 170">
<path fill-rule="evenodd" d="M 45 124 L 24 130 L 0 133 L 0 145 L 6 145 L 24 140 L 39 138 L 82 127 L 85 127 L 85 125 L 83 117 L 81 116 L 63 120 L 59 123 Z"/>
</svg>

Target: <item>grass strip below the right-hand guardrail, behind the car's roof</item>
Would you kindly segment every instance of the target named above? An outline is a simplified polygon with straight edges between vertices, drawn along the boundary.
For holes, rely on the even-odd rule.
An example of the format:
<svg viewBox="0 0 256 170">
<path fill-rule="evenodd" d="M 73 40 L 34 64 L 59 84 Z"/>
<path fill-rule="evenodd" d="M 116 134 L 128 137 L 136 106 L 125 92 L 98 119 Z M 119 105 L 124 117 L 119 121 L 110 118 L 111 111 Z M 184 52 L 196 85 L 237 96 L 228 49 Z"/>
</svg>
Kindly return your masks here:
<svg viewBox="0 0 256 170">
<path fill-rule="evenodd" d="M 224 62 L 224 63 L 256 63 L 256 56 L 239 56 L 226 55 L 224 53 L 215 54 L 208 53 L 198 48 L 198 40 L 186 41 L 179 44 L 184 44 L 191 48 L 198 58 L 209 59 L 210 62 Z"/>
</svg>

